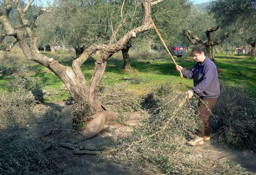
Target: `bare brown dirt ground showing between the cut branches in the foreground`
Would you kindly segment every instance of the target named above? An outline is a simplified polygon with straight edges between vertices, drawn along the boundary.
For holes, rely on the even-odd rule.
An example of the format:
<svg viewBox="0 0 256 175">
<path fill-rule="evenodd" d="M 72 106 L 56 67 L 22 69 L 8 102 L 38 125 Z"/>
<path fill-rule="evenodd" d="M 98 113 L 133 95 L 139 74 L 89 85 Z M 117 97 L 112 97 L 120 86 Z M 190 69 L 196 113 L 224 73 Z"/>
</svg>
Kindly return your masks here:
<svg viewBox="0 0 256 175">
<path fill-rule="evenodd" d="M 72 150 L 58 146 L 61 140 L 55 140 L 57 136 L 52 137 L 51 133 L 57 125 L 58 112 L 65 106 L 64 102 L 56 104 L 39 104 L 33 109 L 35 116 L 32 121 L 20 126 L 19 128 L 8 129 L 2 132 L 2 136 L 19 135 L 17 144 L 23 144 L 26 147 L 28 137 L 35 139 L 37 142 L 44 142 L 42 145 L 47 154 L 56 155 L 61 174 L 109 174 L 109 175 L 132 175 L 143 174 L 151 175 L 153 172 L 141 172 L 136 169 L 130 169 L 122 163 L 106 162 L 102 156 L 96 155 L 75 155 Z M 99 133 L 92 139 L 79 142 L 77 145 L 86 145 L 97 147 L 102 143 L 110 144 L 115 142 L 118 137 L 124 137 L 132 132 L 133 127 L 139 127 L 142 124 L 142 119 L 148 116 L 141 116 L 138 112 L 128 112 L 129 116 L 127 125 L 113 125 L 105 131 Z M 55 116 L 55 117 L 54 117 Z M 47 141 L 47 142 L 45 142 Z M 248 171 L 256 173 L 256 154 L 252 152 L 238 152 L 227 147 L 222 147 L 215 140 L 205 142 L 205 145 L 200 147 L 191 147 L 198 151 L 199 156 L 206 156 L 213 160 L 228 161 L 231 160 L 234 164 L 239 164 Z"/>
</svg>

